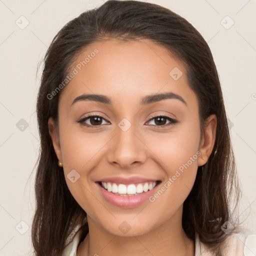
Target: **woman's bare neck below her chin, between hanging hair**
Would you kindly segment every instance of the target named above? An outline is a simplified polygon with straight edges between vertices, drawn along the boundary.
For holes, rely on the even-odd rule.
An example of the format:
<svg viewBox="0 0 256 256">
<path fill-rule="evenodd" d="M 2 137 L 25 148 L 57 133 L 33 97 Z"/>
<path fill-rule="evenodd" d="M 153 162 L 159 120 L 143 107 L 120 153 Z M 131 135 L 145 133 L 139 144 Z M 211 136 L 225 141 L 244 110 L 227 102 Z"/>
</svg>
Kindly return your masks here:
<svg viewBox="0 0 256 256">
<path fill-rule="evenodd" d="M 152 228 L 150 232 L 132 236 L 111 234 L 87 216 L 89 234 L 79 245 L 77 256 L 193 256 L 194 242 L 185 234 L 180 216 L 177 212 L 160 226 Z"/>
</svg>

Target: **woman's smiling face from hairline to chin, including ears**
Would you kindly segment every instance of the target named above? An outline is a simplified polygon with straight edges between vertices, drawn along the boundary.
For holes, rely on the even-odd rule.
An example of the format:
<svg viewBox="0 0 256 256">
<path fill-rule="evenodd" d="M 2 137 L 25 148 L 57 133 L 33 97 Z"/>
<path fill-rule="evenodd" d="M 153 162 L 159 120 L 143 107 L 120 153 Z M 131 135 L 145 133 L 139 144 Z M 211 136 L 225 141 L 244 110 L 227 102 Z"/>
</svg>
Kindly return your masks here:
<svg viewBox="0 0 256 256">
<path fill-rule="evenodd" d="M 49 130 L 67 186 L 91 226 L 139 235 L 180 223 L 216 125 L 213 118 L 208 142 L 200 141 L 198 103 L 184 66 L 150 40 L 111 39 L 90 44 L 70 70 L 58 103 L 59 137 L 51 118 Z M 169 94 L 157 96 L 162 93 Z M 86 94 L 110 102 L 81 97 Z M 97 117 L 84 119 L 92 114 Z M 114 194 L 99 181 L 108 181 L 108 190 L 137 194 Z"/>
</svg>

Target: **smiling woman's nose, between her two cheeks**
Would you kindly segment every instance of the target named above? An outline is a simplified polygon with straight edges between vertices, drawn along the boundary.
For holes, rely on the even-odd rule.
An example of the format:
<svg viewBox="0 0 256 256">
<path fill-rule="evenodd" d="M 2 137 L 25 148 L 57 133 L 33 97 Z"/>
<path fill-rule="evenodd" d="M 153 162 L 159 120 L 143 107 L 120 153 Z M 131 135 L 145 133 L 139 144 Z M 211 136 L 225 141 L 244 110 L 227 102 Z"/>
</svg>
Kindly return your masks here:
<svg viewBox="0 0 256 256">
<path fill-rule="evenodd" d="M 147 157 L 144 136 L 138 132 L 135 125 L 131 125 L 126 131 L 120 127 L 116 127 L 115 136 L 108 143 L 108 162 L 121 168 L 132 168 L 144 163 Z"/>
</svg>

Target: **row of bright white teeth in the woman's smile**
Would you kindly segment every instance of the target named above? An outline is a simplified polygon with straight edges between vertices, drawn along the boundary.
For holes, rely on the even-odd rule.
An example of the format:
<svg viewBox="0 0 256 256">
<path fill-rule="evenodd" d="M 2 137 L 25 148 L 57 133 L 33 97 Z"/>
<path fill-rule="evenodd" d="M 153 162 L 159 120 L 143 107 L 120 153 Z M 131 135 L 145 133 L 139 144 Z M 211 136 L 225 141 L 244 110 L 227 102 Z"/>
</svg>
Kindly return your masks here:
<svg viewBox="0 0 256 256">
<path fill-rule="evenodd" d="M 107 189 L 108 192 L 112 192 L 115 194 L 120 195 L 135 195 L 142 192 L 147 192 L 148 190 L 151 190 L 156 185 L 156 182 L 145 182 L 144 185 L 142 183 L 139 183 L 137 185 L 135 184 L 116 184 L 111 182 L 101 182 L 101 186 Z"/>
</svg>

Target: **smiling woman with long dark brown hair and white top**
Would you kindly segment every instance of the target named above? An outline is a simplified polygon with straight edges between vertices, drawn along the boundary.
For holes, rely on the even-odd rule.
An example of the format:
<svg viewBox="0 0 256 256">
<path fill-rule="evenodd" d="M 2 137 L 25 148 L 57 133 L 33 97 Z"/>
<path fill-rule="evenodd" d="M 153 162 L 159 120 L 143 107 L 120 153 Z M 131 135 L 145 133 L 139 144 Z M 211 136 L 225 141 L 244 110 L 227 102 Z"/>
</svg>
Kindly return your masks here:
<svg viewBox="0 0 256 256">
<path fill-rule="evenodd" d="M 37 116 L 35 255 L 243 255 L 220 82 L 184 18 L 109 0 L 69 21 Z"/>
</svg>

